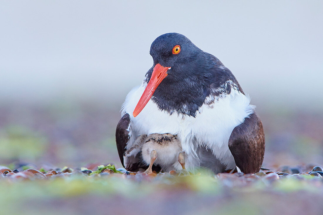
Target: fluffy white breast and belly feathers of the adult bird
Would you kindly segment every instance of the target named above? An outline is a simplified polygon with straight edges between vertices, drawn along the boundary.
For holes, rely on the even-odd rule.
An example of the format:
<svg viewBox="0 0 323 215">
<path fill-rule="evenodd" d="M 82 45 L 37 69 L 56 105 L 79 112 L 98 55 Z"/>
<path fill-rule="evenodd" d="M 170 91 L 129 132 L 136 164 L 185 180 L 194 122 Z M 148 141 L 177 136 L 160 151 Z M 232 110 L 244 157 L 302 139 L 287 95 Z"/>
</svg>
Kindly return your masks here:
<svg viewBox="0 0 323 215">
<path fill-rule="evenodd" d="M 141 113 L 134 118 L 132 112 L 145 87 L 141 85 L 133 88 L 123 105 L 122 112 L 129 113 L 132 129 L 127 148 L 141 134 L 170 133 L 178 135 L 181 140 L 182 149 L 186 154 L 187 169 L 193 170 L 199 167 L 196 148 L 200 145 L 212 150 L 214 156 L 226 166 L 226 169 L 235 167 L 228 141 L 234 127 L 253 113 L 255 107 L 249 104 L 248 96 L 232 90 L 230 95 L 219 100 L 215 99 L 211 106 L 203 104 L 195 118 L 177 113 L 169 115 L 159 110 L 157 105 L 150 100 Z"/>
</svg>

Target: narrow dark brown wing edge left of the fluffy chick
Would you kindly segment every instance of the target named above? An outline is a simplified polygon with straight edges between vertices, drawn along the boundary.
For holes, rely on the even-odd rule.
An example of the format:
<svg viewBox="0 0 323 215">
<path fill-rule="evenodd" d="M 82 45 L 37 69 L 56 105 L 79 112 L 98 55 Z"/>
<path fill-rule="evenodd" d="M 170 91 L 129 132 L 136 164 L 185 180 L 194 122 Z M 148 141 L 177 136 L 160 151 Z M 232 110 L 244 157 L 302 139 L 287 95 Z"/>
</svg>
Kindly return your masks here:
<svg viewBox="0 0 323 215">
<path fill-rule="evenodd" d="M 119 158 L 122 166 L 123 164 L 123 154 L 126 151 L 127 142 L 129 141 L 129 132 L 130 132 L 130 116 L 129 114 L 124 114 L 120 119 L 117 129 L 116 129 L 116 143 L 119 153 Z"/>
</svg>

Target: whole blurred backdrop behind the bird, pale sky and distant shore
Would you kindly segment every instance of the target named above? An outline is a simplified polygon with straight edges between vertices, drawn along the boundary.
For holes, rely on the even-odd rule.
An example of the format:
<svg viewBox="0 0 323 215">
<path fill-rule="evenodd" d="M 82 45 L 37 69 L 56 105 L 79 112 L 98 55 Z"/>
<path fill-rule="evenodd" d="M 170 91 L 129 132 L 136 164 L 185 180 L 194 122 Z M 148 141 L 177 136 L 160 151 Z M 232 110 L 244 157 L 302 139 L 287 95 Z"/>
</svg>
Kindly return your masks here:
<svg viewBox="0 0 323 215">
<path fill-rule="evenodd" d="M 322 162 L 322 1 L 0 1 L 0 164 L 120 161 L 120 107 L 161 34 L 218 57 L 257 106 L 265 164 Z"/>
</svg>

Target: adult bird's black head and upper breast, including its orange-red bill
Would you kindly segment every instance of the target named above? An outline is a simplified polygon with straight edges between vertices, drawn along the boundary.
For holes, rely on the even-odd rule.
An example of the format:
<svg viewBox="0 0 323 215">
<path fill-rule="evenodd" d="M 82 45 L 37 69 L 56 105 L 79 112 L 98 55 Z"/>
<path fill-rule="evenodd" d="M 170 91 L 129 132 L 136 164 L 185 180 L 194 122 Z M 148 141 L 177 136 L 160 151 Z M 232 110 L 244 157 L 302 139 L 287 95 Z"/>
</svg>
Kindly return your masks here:
<svg viewBox="0 0 323 215">
<path fill-rule="evenodd" d="M 223 68 L 219 69 L 223 64 L 178 33 L 157 37 L 151 44 L 150 54 L 154 64 L 146 74 L 148 84 L 133 116 L 136 117 L 150 99 L 170 114 L 195 116 L 205 97 L 210 95 L 211 85 L 217 82 L 216 85 L 220 85 L 221 80 L 216 76 L 217 71 L 223 73 Z"/>
</svg>

